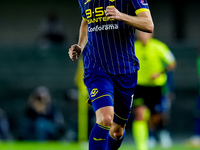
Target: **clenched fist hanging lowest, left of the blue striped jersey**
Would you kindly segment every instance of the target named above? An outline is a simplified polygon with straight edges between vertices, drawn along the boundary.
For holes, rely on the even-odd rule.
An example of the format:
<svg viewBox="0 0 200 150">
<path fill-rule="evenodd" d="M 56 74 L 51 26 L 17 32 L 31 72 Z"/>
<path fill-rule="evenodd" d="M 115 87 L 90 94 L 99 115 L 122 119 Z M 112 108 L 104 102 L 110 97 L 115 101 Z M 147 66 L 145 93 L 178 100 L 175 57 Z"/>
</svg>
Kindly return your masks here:
<svg viewBox="0 0 200 150">
<path fill-rule="evenodd" d="M 74 44 L 69 48 L 68 54 L 72 61 L 75 61 L 81 55 L 82 49 L 78 44 Z"/>
</svg>

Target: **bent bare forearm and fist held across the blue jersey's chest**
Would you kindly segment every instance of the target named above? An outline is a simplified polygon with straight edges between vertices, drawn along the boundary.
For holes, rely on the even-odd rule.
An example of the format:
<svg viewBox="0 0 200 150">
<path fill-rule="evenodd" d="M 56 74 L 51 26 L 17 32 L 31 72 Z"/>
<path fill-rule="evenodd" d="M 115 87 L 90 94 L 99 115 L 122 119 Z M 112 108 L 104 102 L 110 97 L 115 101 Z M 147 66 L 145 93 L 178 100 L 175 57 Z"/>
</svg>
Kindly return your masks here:
<svg viewBox="0 0 200 150">
<path fill-rule="evenodd" d="M 151 13 L 148 11 L 140 12 L 137 14 L 137 16 L 131 16 L 118 11 L 115 7 L 108 6 L 106 8 L 106 16 L 109 16 L 110 19 L 123 21 L 138 30 L 149 33 L 152 33 L 154 30 L 154 23 L 151 17 Z"/>
</svg>

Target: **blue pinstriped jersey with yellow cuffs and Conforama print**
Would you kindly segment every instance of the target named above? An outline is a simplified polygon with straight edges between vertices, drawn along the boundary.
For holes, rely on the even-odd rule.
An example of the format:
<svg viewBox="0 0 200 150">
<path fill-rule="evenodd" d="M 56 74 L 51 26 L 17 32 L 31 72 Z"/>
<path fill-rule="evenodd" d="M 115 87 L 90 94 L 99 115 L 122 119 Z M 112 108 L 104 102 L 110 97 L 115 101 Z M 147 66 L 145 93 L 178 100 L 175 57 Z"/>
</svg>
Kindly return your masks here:
<svg viewBox="0 0 200 150">
<path fill-rule="evenodd" d="M 139 69 L 135 56 L 135 29 L 105 15 L 111 6 L 128 15 L 149 11 L 146 0 L 79 0 L 88 23 L 88 43 L 83 52 L 84 68 L 99 67 L 109 74 L 134 73 Z"/>
</svg>

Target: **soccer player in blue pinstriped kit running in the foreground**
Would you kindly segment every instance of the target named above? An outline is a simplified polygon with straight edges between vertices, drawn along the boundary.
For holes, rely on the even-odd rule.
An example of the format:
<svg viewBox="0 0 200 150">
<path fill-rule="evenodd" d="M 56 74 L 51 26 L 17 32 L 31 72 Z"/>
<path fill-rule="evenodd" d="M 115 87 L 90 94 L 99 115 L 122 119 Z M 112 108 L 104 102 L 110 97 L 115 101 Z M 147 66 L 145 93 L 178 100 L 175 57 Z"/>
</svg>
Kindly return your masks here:
<svg viewBox="0 0 200 150">
<path fill-rule="evenodd" d="M 83 54 L 84 83 L 96 114 L 89 150 L 117 150 L 137 83 L 134 31 L 153 32 L 152 17 L 146 0 L 79 0 L 79 4 L 83 17 L 79 41 L 68 53 L 73 61 Z"/>
</svg>

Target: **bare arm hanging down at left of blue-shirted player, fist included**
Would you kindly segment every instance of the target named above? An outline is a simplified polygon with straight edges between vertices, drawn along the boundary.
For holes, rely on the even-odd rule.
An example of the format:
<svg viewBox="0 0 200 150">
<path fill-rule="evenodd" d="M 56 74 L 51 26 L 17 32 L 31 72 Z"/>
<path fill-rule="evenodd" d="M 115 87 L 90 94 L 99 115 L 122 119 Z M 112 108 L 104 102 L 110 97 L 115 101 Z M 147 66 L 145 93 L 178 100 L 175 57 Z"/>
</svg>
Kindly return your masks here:
<svg viewBox="0 0 200 150">
<path fill-rule="evenodd" d="M 77 60 L 81 53 L 83 52 L 83 49 L 85 48 L 87 41 L 88 41 L 88 36 L 87 36 L 87 20 L 83 19 L 81 22 L 80 30 L 79 30 L 79 40 L 78 44 L 74 44 L 69 48 L 69 57 L 71 60 Z"/>
</svg>

